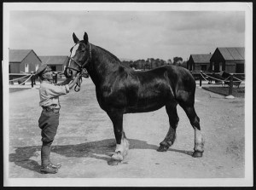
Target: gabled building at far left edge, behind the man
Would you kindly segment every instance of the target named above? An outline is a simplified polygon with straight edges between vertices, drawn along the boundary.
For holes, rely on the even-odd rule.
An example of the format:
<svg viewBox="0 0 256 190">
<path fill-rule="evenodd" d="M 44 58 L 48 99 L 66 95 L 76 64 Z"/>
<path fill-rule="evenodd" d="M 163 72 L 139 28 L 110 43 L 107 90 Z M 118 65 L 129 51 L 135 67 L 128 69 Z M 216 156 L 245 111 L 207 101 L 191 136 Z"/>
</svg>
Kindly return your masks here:
<svg viewBox="0 0 256 190">
<path fill-rule="evenodd" d="M 31 73 L 42 62 L 32 49 L 9 49 L 9 73 Z"/>
</svg>

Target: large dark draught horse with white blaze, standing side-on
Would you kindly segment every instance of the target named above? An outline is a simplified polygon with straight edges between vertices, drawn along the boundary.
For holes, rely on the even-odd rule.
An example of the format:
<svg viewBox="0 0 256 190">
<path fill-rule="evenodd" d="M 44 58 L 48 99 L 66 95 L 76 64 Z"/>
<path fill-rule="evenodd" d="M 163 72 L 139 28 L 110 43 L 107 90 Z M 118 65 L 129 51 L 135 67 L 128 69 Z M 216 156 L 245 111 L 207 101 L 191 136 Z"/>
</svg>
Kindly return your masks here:
<svg viewBox="0 0 256 190">
<path fill-rule="evenodd" d="M 113 123 L 116 140 L 113 160 L 122 161 L 129 150 L 129 141 L 123 129 L 125 113 L 152 112 L 166 107 L 169 130 L 157 151 L 166 152 L 176 139 L 179 117 L 177 105 L 186 112 L 195 130 L 195 158 L 202 157 L 204 139 L 200 118 L 195 112 L 195 79 L 181 66 L 160 66 L 148 71 L 135 71 L 106 49 L 89 43 L 88 35 L 79 40 L 73 33 L 74 46 L 64 74 L 74 78 L 85 68 L 96 86 L 96 99 Z"/>
</svg>

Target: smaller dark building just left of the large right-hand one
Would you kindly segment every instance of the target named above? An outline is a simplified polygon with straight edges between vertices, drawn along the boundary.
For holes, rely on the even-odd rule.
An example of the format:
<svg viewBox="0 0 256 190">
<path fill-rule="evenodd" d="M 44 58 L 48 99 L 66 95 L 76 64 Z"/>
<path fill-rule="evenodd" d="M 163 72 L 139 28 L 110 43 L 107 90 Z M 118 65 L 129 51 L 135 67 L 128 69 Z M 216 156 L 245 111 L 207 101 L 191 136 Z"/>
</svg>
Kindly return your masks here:
<svg viewBox="0 0 256 190">
<path fill-rule="evenodd" d="M 189 71 L 209 71 L 211 54 L 190 55 L 187 62 Z"/>
</svg>

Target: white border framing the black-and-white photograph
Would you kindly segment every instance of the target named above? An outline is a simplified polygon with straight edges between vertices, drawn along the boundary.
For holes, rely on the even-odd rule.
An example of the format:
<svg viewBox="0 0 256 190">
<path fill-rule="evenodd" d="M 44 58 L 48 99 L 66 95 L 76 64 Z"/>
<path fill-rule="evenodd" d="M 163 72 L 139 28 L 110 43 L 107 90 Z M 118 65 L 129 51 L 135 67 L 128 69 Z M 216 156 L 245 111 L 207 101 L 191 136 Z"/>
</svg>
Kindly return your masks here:
<svg viewBox="0 0 256 190">
<path fill-rule="evenodd" d="M 245 177 L 214 179 L 9 178 L 9 13 L 13 10 L 245 11 Z M 250 187 L 253 186 L 253 3 L 3 3 L 3 182 L 5 187 Z"/>
</svg>

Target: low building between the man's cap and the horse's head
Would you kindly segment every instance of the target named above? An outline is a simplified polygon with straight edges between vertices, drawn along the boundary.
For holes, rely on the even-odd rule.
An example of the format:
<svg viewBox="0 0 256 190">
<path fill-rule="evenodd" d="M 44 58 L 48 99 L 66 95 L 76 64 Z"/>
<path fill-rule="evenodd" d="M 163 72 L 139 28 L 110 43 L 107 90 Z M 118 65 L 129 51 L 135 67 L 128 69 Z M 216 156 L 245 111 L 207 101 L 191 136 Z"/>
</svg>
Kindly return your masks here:
<svg viewBox="0 0 256 190">
<path fill-rule="evenodd" d="M 63 72 L 67 66 L 68 56 L 39 56 L 42 63 L 51 67 L 53 72 Z"/>
</svg>

